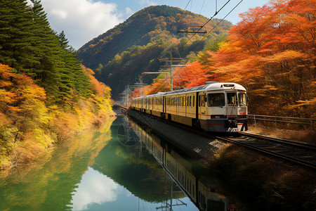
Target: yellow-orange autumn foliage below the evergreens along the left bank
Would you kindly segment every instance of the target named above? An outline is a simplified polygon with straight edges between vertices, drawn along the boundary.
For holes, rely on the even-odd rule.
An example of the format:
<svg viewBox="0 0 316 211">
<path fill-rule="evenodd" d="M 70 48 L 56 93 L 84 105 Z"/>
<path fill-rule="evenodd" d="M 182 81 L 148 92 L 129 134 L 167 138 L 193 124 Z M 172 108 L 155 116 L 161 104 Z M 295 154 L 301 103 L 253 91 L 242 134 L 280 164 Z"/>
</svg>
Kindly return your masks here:
<svg viewBox="0 0 316 211">
<path fill-rule="evenodd" d="M 49 96 L 43 88 L 10 71 L 0 64 L 0 170 L 37 160 L 54 143 L 100 126 L 112 111 L 111 89 L 96 81 L 92 70 L 86 72 L 96 84 L 96 94 L 69 100 L 67 107 L 46 105 Z"/>
</svg>

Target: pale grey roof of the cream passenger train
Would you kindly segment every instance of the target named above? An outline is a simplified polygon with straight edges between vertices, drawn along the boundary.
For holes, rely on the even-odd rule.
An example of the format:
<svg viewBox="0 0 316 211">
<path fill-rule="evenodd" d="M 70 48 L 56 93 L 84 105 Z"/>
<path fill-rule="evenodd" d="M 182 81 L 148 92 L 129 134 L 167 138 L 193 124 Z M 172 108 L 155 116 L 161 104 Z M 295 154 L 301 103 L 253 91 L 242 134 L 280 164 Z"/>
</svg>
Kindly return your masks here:
<svg viewBox="0 0 316 211">
<path fill-rule="evenodd" d="M 244 89 L 242 85 L 235 84 L 235 83 L 222 83 L 222 82 L 205 82 L 205 83 L 206 84 L 199 87 L 191 87 L 187 89 L 176 89 L 174 91 L 167 91 L 167 92 L 158 92 L 157 94 L 151 94 L 151 95 L 142 96 L 138 98 L 169 96 L 173 94 L 185 94 L 185 93 L 192 93 L 192 92 L 197 92 L 197 91 L 220 91 L 220 90 L 231 90 L 231 89 L 246 91 L 246 89 Z"/>
</svg>

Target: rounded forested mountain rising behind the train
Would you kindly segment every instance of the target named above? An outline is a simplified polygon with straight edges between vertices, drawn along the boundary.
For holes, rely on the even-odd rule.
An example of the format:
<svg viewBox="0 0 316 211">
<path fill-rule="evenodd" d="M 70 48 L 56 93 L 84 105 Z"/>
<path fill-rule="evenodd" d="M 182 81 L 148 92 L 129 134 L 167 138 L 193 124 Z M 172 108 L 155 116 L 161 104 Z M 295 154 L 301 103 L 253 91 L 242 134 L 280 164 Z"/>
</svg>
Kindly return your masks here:
<svg viewBox="0 0 316 211">
<path fill-rule="evenodd" d="M 77 53 L 82 63 L 96 70 L 96 78 L 108 84 L 114 98 L 117 98 L 127 84 L 135 82 L 141 72 L 158 71 L 159 58 L 165 56 L 164 53 L 171 52 L 173 57 L 184 58 L 191 51 L 201 51 L 213 41 L 226 37 L 232 24 L 223 20 L 218 25 L 221 21 L 218 19 L 209 21 L 203 28 L 207 32 L 213 29 L 207 35 L 196 34 L 190 39 L 192 34 L 178 33 L 178 30 L 185 30 L 189 25 L 204 25 L 208 20 L 180 8 L 150 6 L 88 41 Z M 203 39 L 204 36 L 207 39 Z M 149 79 L 152 76 L 147 76 L 147 82 L 150 82 Z"/>
</svg>

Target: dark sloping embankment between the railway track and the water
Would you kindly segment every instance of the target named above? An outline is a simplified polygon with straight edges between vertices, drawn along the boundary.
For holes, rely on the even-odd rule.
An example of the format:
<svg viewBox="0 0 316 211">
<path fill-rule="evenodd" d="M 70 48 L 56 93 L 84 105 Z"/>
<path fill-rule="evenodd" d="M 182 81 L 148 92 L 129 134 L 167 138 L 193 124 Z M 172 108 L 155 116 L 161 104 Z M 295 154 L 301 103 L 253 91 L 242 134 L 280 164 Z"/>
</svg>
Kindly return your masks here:
<svg viewBox="0 0 316 211">
<path fill-rule="evenodd" d="M 129 115 L 157 132 L 190 158 L 199 159 L 220 180 L 227 195 L 251 205 L 250 210 L 315 210 L 315 172 L 277 158 L 192 134 L 147 115 Z"/>
</svg>

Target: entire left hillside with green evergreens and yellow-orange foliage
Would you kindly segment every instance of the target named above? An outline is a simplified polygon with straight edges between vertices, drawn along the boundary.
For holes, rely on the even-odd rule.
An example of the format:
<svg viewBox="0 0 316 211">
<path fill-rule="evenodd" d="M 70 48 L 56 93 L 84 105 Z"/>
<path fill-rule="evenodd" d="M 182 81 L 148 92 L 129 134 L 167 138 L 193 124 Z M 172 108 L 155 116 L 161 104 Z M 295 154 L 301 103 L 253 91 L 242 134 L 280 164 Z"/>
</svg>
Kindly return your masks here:
<svg viewBox="0 0 316 211">
<path fill-rule="evenodd" d="M 81 66 L 41 1 L 0 1 L 0 169 L 32 162 L 53 143 L 100 124 L 110 88 Z"/>
</svg>

